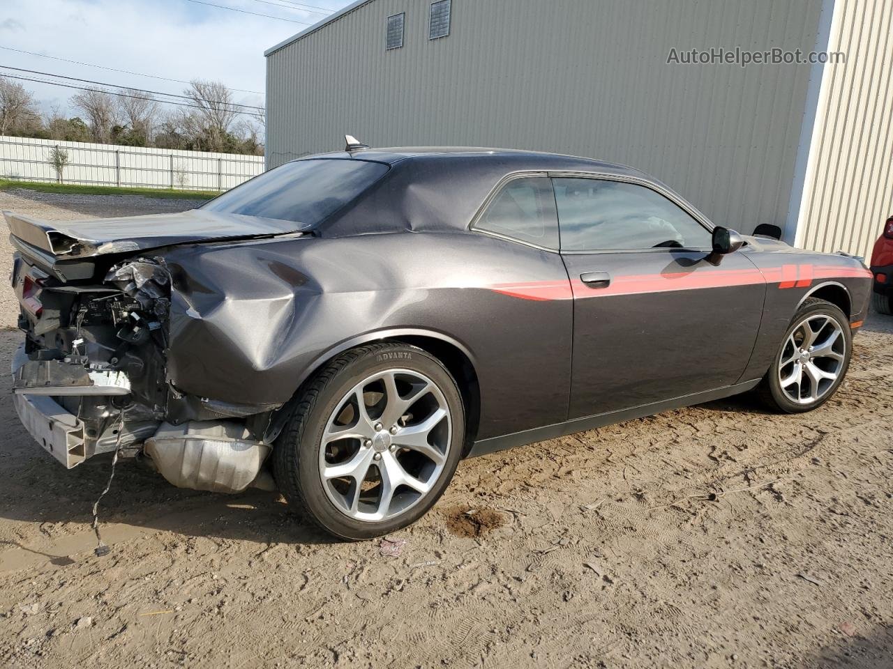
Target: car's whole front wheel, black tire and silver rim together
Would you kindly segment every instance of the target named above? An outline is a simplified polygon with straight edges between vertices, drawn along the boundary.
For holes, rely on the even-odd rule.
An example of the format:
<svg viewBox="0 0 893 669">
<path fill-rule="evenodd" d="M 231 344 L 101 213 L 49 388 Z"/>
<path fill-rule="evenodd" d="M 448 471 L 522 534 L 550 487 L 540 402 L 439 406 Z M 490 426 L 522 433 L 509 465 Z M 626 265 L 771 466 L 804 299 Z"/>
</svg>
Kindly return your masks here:
<svg viewBox="0 0 893 669">
<path fill-rule="evenodd" d="M 787 413 L 816 409 L 838 389 L 853 354 L 853 334 L 843 311 L 828 301 L 808 298 L 785 333 L 761 395 Z"/>
</svg>

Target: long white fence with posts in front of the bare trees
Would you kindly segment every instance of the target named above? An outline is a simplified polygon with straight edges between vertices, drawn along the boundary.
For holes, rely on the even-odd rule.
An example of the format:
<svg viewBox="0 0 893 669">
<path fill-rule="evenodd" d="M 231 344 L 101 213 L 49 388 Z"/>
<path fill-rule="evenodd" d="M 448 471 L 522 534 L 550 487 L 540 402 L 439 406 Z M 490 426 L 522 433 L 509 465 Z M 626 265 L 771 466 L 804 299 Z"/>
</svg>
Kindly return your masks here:
<svg viewBox="0 0 893 669">
<path fill-rule="evenodd" d="M 263 172 L 263 156 L 0 136 L 0 178 L 56 181 L 55 146 L 66 184 L 225 191 Z"/>
</svg>

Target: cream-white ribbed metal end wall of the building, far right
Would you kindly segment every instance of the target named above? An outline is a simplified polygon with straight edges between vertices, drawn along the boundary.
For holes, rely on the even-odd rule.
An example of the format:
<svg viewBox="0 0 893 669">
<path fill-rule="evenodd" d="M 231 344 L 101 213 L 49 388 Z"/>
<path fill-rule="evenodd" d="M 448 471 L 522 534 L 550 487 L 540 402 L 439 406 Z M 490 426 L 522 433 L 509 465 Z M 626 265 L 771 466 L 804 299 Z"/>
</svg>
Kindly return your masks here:
<svg viewBox="0 0 893 669">
<path fill-rule="evenodd" d="M 796 244 L 866 258 L 893 214 L 893 0 L 838 0 Z"/>
</svg>

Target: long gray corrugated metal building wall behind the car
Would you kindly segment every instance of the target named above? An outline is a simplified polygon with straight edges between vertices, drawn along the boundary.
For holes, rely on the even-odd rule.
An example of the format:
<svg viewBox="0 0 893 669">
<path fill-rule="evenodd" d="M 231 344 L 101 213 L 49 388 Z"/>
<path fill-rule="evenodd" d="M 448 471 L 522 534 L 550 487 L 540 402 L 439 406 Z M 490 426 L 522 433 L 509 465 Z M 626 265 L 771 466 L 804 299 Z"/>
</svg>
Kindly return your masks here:
<svg viewBox="0 0 893 669">
<path fill-rule="evenodd" d="M 377 146 L 573 153 L 663 179 L 715 222 L 783 225 L 808 65 L 667 64 L 671 47 L 814 49 L 815 0 L 371 0 L 267 61 L 268 165 Z M 405 46 L 385 50 L 389 14 Z"/>
</svg>

